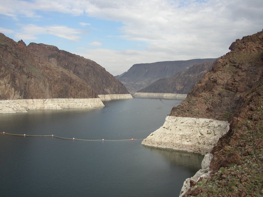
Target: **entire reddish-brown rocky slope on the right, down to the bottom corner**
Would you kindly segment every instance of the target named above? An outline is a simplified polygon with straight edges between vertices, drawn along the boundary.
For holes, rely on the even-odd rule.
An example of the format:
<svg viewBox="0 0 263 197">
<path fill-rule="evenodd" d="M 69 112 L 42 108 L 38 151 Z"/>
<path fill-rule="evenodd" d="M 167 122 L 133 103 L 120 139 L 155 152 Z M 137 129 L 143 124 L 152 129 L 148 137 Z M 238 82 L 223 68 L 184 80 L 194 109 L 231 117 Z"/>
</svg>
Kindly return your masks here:
<svg viewBox="0 0 263 197">
<path fill-rule="evenodd" d="M 171 116 L 230 122 L 213 148 L 211 174 L 184 196 L 263 195 L 263 32 L 237 39 Z"/>
</svg>

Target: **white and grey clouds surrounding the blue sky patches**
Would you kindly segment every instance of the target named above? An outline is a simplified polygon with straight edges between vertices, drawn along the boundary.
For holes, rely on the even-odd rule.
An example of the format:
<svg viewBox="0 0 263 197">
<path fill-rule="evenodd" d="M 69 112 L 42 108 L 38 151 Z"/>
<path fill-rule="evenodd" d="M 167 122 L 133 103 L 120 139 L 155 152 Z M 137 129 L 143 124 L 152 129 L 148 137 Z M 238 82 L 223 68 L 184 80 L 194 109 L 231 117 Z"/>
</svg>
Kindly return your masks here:
<svg viewBox="0 0 263 197">
<path fill-rule="evenodd" d="M 121 22 L 122 27 L 115 30 L 118 35 L 146 43 L 144 51 L 108 48 L 82 53 L 114 75 L 127 71 L 135 63 L 217 58 L 229 51 L 235 39 L 260 31 L 263 24 L 262 0 L 0 0 L 0 3 L 0 14 L 14 19 L 58 12 Z M 26 25 L 19 32 L 32 39 L 38 34 L 52 34 L 73 41 L 83 38 L 82 33 L 61 25 Z M 89 44 L 101 46 L 97 42 Z"/>
</svg>

